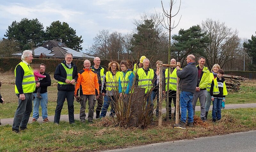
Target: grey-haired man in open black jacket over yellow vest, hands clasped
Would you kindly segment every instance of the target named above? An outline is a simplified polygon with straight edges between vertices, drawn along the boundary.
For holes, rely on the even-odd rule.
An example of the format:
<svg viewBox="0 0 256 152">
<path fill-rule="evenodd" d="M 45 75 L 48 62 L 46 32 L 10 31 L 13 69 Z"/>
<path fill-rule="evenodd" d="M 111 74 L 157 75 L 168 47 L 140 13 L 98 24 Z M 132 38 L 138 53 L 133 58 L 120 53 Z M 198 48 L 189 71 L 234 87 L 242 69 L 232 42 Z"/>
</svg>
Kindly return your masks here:
<svg viewBox="0 0 256 152">
<path fill-rule="evenodd" d="M 65 99 L 68 102 L 68 120 L 70 124 L 75 123 L 74 119 L 74 91 L 77 80 L 77 68 L 72 62 L 73 54 L 66 53 L 65 60 L 56 67 L 54 79 L 58 81 L 57 106 L 54 115 L 54 123 L 60 123 L 60 113 Z"/>
</svg>

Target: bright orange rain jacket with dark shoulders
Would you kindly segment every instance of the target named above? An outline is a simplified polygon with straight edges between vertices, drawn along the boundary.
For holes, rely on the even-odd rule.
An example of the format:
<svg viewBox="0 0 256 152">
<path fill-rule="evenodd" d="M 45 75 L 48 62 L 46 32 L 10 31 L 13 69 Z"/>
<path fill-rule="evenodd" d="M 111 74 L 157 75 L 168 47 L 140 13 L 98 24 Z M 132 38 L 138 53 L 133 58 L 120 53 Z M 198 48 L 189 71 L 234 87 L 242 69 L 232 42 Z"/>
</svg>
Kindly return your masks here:
<svg viewBox="0 0 256 152">
<path fill-rule="evenodd" d="M 92 69 L 83 69 L 78 72 L 78 78 L 76 81 L 75 93 L 78 95 L 80 88 L 80 95 L 99 95 L 99 82 L 97 73 Z"/>
</svg>

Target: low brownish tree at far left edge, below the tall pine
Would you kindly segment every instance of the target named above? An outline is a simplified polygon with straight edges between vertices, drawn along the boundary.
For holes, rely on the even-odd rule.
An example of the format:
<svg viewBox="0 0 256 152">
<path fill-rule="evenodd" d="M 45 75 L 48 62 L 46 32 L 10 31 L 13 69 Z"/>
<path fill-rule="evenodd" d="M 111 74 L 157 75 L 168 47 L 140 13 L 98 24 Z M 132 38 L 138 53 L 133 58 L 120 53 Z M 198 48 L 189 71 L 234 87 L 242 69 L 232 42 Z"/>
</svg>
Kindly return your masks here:
<svg viewBox="0 0 256 152">
<path fill-rule="evenodd" d="M 0 41 L 0 55 L 12 57 L 13 53 L 18 51 L 19 43 L 14 40 L 2 39 Z"/>
</svg>

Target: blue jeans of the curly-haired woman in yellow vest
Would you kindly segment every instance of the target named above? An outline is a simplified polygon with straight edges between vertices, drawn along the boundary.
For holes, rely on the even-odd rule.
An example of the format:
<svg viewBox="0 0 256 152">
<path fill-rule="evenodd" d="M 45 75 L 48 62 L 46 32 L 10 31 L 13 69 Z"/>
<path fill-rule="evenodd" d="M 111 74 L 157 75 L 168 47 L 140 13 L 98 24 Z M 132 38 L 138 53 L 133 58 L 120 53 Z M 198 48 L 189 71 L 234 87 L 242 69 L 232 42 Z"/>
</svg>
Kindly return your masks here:
<svg viewBox="0 0 256 152">
<path fill-rule="evenodd" d="M 102 110 L 101 110 L 101 113 L 100 113 L 100 118 L 106 117 L 109 104 L 111 106 L 109 116 L 114 116 L 114 114 L 116 113 L 115 112 L 115 103 L 116 103 L 116 98 L 113 95 L 111 95 L 111 96 L 105 95 L 104 103 L 103 103 Z"/>
</svg>

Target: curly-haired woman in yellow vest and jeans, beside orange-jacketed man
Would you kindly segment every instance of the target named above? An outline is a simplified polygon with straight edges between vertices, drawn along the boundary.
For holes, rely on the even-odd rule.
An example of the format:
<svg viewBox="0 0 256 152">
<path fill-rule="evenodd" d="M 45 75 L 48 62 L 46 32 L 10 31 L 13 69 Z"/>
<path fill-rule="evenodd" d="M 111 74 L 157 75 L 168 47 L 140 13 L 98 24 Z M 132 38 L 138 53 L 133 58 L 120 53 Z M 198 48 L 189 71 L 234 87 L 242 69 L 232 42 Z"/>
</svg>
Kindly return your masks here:
<svg viewBox="0 0 256 152">
<path fill-rule="evenodd" d="M 105 117 L 108 111 L 109 104 L 111 106 L 110 115 L 115 115 L 115 104 L 118 99 L 118 80 L 121 75 L 120 65 L 116 61 L 111 61 L 108 64 L 108 72 L 106 72 L 105 82 L 102 93 L 105 93 L 104 103 L 100 113 L 100 118 Z"/>
</svg>

